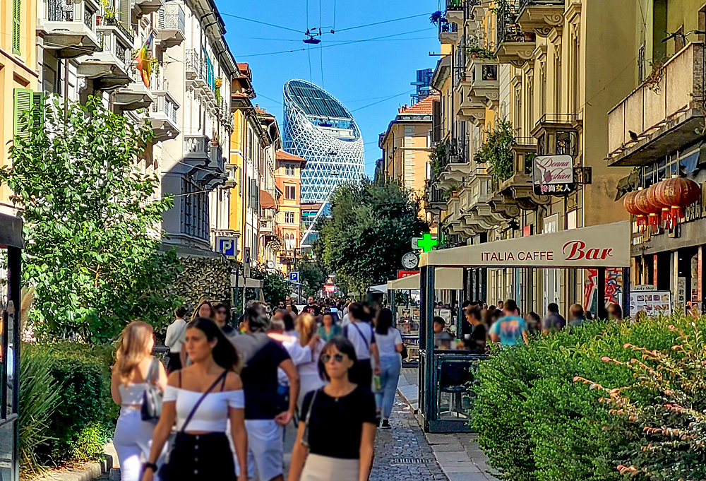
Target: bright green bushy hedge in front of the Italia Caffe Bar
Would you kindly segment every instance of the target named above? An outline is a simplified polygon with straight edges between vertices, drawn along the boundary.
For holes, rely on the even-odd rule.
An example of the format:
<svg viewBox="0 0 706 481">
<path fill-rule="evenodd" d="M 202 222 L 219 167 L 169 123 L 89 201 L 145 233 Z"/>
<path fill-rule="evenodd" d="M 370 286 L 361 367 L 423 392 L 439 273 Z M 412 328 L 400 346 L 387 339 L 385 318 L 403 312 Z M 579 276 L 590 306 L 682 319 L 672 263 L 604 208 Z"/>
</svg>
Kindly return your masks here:
<svg viewBox="0 0 706 481">
<path fill-rule="evenodd" d="M 639 430 L 600 401 L 604 391 L 574 378 L 610 387 L 633 385 L 633 371 L 602 358 L 633 359 L 635 352 L 624 348 L 626 343 L 669 352 L 678 338 L 669 325 L 690 322 L 693 319 L 595 321 L 540 335 L 529 348 L 497 351 L 481 362 L 471 419 L 491 467 L 509 481 L 626 479 L 616 465 L 630 463 L 630 447 L 640 441 Z M 637 389 L 631 398 L 649 404 L 657 393 Z"/>
</svg>

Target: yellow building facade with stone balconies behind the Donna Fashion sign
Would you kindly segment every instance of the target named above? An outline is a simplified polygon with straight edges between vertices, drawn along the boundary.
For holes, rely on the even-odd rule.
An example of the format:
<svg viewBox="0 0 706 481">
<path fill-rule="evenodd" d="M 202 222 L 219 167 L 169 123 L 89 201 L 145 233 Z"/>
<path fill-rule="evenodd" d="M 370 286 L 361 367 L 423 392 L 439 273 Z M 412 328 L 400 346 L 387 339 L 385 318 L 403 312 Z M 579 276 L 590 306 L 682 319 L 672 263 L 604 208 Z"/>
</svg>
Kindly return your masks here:
<svg viewBox="0 0 706 481">
<path fill-rule="evenodd" d="M 479 244 L 626 219 L 605 161 L 608 117 L 633 83 L 638 50 L 627 0 L 449 2 L 439 18 L 441 90 L 429 212 L 448 244 Z M 620 45 L 620 48 L 616 46 Z M 574 188 L 537 195 L 533 159 L 570 156 Z M 590 272 L 474 269 L 469 297 L 522 311 L 597 310 Z M 621 280 L 618 279 L 618 283 Z"/>
</svg>

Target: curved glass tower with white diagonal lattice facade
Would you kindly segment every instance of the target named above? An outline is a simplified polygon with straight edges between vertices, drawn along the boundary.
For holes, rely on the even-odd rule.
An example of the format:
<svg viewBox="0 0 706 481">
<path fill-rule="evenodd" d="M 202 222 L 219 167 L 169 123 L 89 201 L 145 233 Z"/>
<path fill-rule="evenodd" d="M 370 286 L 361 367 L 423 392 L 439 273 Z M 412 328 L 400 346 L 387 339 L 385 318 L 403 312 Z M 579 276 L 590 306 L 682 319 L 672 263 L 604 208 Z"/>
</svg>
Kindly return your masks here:
<svg viewBox="0 0 706 481">
<path fill-rule="evenodd" d="M 353 116 L 313 83 L 285 83 L 284 149 L 306 159 L 301 171 L 301 203 L 323 203 L 339 184 L 365 172 L 363 138 Z"/>
</svg>

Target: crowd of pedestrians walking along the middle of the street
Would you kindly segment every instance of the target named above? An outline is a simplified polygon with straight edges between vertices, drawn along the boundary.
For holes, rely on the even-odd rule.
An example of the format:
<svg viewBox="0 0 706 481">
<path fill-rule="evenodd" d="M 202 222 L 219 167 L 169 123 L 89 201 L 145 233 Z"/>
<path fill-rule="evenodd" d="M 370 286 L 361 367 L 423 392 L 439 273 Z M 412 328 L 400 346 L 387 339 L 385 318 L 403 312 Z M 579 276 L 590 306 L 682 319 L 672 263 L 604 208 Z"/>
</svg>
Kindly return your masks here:
<svg viewBox="0 0 706 481">
<path fill-rule="evenodd" d="M 253 302 L 236 326 L 228 304 L 204 299 L 187 314 L 176 309 L 167 328 L 166 368 L 152 326 L 121 333 L 111 393 L 122 481 L 284 481 L 292 423 L 288 481 L 368 479 L 402 368 L 390 309 Z"/>
</svg>

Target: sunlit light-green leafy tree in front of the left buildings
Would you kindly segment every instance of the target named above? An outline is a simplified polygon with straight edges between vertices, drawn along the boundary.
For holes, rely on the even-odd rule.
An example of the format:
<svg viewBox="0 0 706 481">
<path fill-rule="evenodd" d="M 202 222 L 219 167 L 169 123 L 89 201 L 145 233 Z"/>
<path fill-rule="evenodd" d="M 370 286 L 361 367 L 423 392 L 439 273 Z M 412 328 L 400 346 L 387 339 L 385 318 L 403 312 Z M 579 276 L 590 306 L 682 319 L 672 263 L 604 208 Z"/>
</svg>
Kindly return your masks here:
<svg viewBox="0 0 706 481">
<path fill-rule="evenodd" d="M 171 198 L 138 170 L 152 131 L 106 109 L 52 97 L 25 116 L 0 182 L 14 192 L 27 247 L 23 277 L 36 287 L 35 331 L 88 342 L 113 338 L 128 321 L 164 326 L 178 304 L 169 285 L 176 254 L 160 253 Z"/>
</svg>

